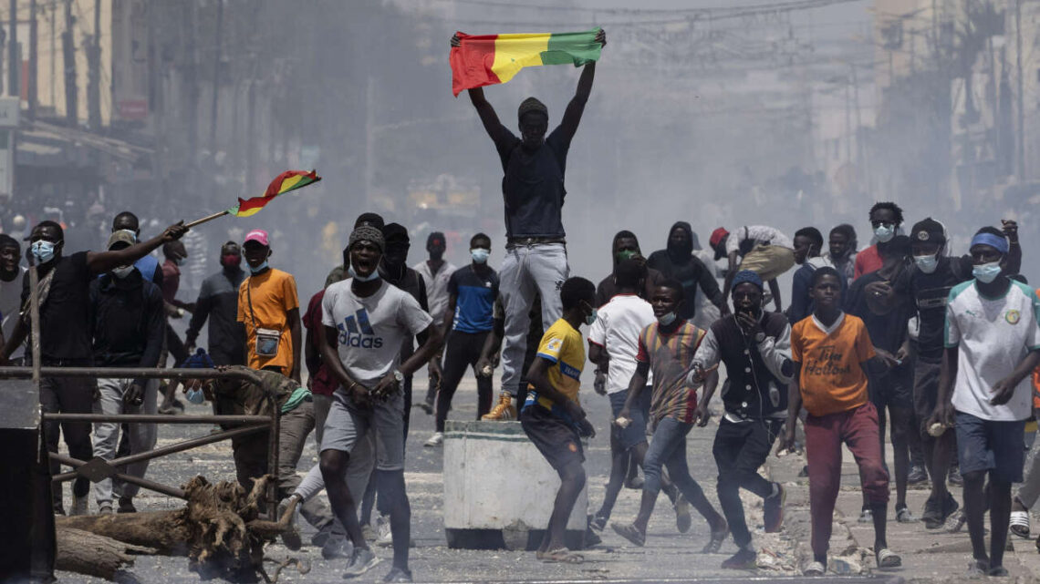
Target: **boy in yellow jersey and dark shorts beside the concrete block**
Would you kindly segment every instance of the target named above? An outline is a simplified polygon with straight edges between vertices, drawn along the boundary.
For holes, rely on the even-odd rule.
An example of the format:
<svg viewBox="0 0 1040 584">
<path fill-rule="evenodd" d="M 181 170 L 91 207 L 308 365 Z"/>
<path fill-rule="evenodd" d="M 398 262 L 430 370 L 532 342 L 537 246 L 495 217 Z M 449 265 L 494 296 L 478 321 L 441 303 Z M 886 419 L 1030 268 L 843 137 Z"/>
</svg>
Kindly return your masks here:
<svg viewBox="0 0 1040 584">
<path fill-rule="evenodd" d="M 586 357 L 578 329 L 582 324 L 596 322 L 593 307 L 596 285 L 583 277 L 569 278 L 560 289 L 560 301 L 564 316 L 545 331 L 538 346 L 538 357 L 527 372 L 530 389 L 520 414 L 520 424 L 542 456 L 560 474 L 561 480 L 552 515 L 538 549 L 538 559 L 580 563 L 583 558 L 567 549 L 564 533 L 586 483 L 581 436 L 596 435 L 578 404 Z"/>
</svg>

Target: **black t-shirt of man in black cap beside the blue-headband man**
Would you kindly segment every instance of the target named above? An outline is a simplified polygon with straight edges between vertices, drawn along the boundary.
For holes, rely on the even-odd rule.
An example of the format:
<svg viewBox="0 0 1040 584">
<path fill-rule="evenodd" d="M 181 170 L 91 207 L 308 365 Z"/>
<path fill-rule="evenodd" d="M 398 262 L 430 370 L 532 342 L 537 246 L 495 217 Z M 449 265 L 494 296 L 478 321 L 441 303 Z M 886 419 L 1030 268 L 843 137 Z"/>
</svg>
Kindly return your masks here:
<svg viewBox="0 0 1040 584">
<path fill-rule="evenodd" d="M 946 299 L 950 289 L 971 280 L 971 258 L 939 258 L 932 273 L 925 273 L 916 266 L 903 272 L 895 290 L 909 297 L 910 316 L 916 312 L 920 323 L 917 334 L 917 356 L 931 362 L 942 361 L 943 330 L 946 324 Z"/>
</svg>

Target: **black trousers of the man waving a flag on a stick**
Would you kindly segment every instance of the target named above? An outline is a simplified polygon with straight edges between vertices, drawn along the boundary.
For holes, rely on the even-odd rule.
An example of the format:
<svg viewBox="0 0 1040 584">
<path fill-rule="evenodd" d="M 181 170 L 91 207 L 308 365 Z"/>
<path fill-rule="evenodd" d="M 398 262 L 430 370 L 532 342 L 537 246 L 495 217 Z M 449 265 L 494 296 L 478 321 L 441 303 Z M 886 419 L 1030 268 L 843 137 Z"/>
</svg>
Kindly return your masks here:
<svg viewBox="0 0 1040 584">
<path fill-rule="evenodd" d="M 97 380 L 87 377 L 43 377 L 40 379 L 40 405 L 46 414 L 93 414 L 94 391 Z M 94 458 L 90 443 L 89 422 L 47 422 L 44 425 L 48 452 L 58 451 L 58 430 L 64 434 L 69 455 L 79 460 Z M 60 473 L 61 466 L 51 460 L 51 475 Z M 90 493 L 90 481 L 79 477 L 73 483 L 73 494 L 86 497 Z M 61 505 L 61 487 L 55 486 L 54 506 Z"/>
</svg>

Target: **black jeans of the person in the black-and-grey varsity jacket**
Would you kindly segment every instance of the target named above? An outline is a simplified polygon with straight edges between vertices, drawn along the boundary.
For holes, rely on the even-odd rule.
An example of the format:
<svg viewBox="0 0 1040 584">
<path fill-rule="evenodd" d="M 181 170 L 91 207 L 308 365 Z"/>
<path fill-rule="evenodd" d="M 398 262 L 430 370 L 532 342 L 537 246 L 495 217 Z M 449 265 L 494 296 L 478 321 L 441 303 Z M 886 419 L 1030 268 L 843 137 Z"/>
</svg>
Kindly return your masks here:
<svg viewBox="0 0 1040 584">
<path fill-rule="evenodd" d="M 751 543 L 751 533 L 744 519 L 740 488 L 765 499 L 773 493 L 773 483 L 758 474 L 758 468 L 773 450 L 773 442 L 783 420 L 765 419 L 749 422 L 719 421 L 711 453 L 719 467 L 719 504 L 729 523 L 733 542 L 740 548 Z"/>
</svg>

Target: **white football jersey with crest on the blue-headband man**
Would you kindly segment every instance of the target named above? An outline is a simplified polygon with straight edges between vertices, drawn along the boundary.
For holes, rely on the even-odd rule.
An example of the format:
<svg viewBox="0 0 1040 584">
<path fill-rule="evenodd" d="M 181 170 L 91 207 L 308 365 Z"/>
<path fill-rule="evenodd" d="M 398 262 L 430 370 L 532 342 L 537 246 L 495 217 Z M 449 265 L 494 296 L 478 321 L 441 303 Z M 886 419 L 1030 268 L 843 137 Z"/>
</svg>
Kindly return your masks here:
<svg viewBox="0 0 1040 584">
<path fill-rule="evenodd" d="M 1025 355 L 1040 348 L 1040 299 L 1024 284 L 1012 281 L 1008 293 L 988 298 L 976 281 L 950 291 L 946 302 L 946 348 L 957 347 L 954 407 L 983 420 L 1026 420 L 1033 388 L 1026 376 L 1011 401 L 990 405 L 994 383 L 1011 374 Z"/>
</svg>

